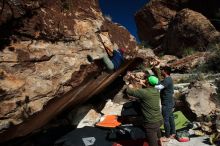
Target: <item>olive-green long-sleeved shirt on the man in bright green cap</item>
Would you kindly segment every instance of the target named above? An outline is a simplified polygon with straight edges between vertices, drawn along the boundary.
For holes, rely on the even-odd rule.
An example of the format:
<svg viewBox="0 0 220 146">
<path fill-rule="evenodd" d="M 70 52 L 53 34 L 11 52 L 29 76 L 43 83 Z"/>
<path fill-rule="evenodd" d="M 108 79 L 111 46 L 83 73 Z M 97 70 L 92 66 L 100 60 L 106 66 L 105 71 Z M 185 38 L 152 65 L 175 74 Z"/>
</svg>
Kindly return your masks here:
<svg viewBox="0 0 220 146">
<path fill-rule="evenodd" d="M 155 88 L 128 88 L 127 94 L 140 99 L 141 111 L 145 123 L 155 123 L 162 120 L 160 111 L 160 93 Z"/>
</svg>

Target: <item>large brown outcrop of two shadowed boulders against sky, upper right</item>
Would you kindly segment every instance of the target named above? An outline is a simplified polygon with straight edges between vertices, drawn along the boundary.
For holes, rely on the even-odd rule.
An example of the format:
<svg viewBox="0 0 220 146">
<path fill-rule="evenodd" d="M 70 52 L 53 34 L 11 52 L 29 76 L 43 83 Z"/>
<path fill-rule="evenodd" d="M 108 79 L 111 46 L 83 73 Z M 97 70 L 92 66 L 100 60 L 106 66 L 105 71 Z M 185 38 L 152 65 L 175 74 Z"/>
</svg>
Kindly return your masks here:
<svg viewBox="0 0 220 146">
<path fill-rule="evenodd" d="M 213 10 L 209 11 L 207 7 L 213 7 Z M 216 0 L 151 0 L 135 15 L 138 35 L 141 41 L 157 47 L 156 53 L 181 57 L 189 48 L 204 50 L 208 43 L 220 37 L 206 18 L 218 19 L 218 7 Z"/>
</svg>

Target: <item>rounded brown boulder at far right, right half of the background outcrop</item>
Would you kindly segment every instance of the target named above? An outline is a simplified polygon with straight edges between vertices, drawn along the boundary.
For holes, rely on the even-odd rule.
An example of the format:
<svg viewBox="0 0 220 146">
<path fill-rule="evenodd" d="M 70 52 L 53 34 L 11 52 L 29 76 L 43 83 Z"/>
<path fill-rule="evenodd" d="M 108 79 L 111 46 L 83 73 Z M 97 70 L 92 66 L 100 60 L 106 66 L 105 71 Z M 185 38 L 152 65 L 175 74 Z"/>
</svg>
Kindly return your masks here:
<svg viewBox="0 0 220 146">
<path fill-rule="evenodd" d="M 220 37 L 211 22 L 198 12 L 183 9 L 170 22 L 162 47 L 168 54 L 182 56 L 187 51 L 205 51 Z"/>
</svg>

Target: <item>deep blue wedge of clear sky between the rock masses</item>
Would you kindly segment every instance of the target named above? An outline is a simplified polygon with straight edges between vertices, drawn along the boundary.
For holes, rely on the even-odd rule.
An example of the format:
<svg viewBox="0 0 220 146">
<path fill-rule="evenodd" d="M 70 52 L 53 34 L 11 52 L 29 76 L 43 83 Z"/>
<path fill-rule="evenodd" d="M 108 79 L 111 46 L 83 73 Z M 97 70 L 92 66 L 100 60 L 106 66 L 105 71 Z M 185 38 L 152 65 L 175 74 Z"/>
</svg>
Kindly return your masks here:
<svg viewBox="0 0 220 146">
<path fill-rule="evenodd" d="M 148 0 L 99 0 L 99 5 L 104 15 L 111 16 L 113 22 L 126 27 L 138 41 L 134 14 L 147 2 Z"/>
</svg>

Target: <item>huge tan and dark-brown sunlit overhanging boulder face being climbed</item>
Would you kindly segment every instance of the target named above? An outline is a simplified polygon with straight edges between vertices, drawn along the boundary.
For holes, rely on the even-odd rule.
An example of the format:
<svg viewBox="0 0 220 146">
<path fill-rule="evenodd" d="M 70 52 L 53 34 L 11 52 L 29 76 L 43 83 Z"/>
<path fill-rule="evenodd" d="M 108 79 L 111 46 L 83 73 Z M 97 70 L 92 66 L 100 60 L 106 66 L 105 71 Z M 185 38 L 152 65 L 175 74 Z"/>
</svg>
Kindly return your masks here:
<svg viewBox="0 0 220 146">
<path fill-rule="evenodd" d="M 105 54 L 109 45 L 134 54 L 136 41 L 106 20 L 97 0 L 9 0 L 0 2 L 0 131 L 20 124 L 53 99 L 99 73 L 86 56 Z"/>
</svg>

